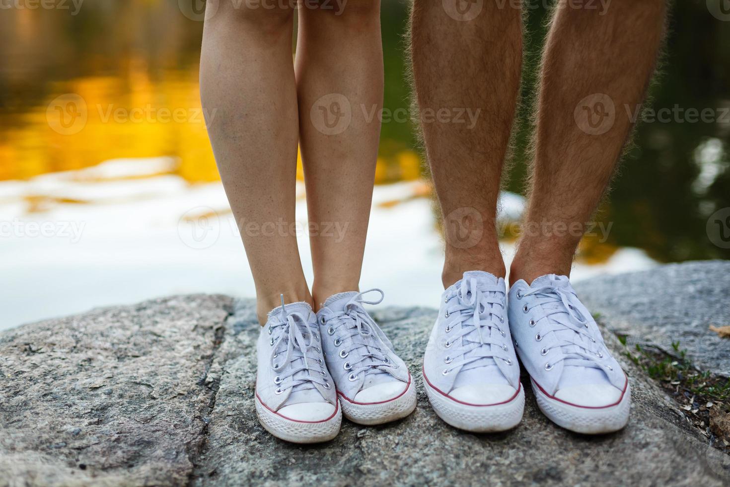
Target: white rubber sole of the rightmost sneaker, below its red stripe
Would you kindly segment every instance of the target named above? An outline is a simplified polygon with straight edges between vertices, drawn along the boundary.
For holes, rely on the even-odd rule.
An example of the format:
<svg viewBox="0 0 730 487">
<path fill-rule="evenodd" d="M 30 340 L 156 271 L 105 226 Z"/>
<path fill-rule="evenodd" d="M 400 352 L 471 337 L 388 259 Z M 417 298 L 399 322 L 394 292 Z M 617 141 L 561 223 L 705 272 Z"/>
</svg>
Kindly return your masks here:
<svg viewBox="0 0 730 487">
<path fill-rule="evenodd" d="M 537 406 L 550 421 L 572 432 L 583 434 L 606 434 L 618 432 L 629 422 L 631 410 L 631 386 L 626 389 L 617 404 L 606 407 L 581 407 L 549 396 L 534 380 L 532 391 Z"/>
</svg>

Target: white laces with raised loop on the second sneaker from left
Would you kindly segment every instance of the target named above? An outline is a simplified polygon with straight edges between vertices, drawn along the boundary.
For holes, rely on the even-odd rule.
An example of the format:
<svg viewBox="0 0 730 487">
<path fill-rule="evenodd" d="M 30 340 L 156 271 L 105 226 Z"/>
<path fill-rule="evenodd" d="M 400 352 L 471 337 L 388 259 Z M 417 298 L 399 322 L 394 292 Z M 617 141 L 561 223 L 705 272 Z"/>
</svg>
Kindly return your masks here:
<svg viewBox="0 0 730 487">
<path fill-rule="evenodd" d="M 380 293 L 380 299 L 377 301 L 363 299 L 364 294 L 372 291 Z M 383 340 L 385 337 L 383 330 L 377 326 L 363 307 L 363 304 L 380 304 L 384 297 L 385 293 L 377 288 L 362 291 L 350 298 L 343 310 L 335 313 L 328 320 L 328 323 L 333 322 L 327 329 L 328 334 L 335 334 L 338 329 L 345 329 L 345 333 L 338 335 L 335 339 L 336 347 L 345 342 L 347 338 L 350 339 L 350 342 L 339 350 L 340 358 L 346 358 L 353 350 L 361 349 L 360 358 L 356 361 L 345 362 L 345 366 L 349 366 L 345 369 L 351 370 L 350 380 L 355 380 L 363 371 L 367 375 L 369 371 L 375 369 L 383 371 L 385 367 L 396 368 L 384 351 L 390 352 L 391 347 Z"/>
</svg>

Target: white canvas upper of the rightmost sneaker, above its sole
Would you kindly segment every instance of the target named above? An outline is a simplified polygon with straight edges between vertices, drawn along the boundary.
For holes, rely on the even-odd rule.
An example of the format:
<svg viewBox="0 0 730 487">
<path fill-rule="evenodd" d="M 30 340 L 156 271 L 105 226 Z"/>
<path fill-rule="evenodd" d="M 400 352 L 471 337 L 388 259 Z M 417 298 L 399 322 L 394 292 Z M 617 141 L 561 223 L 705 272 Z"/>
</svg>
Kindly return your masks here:
<svg viewBox="0 0 730 487">
<path fill-rule="evenodd" d="M 509 318 L 520 360 L 546 394 L 580 407 L 614 404 L 626 375 L 568 277 L 544 275 L 510 289 Z"/>
</svg>

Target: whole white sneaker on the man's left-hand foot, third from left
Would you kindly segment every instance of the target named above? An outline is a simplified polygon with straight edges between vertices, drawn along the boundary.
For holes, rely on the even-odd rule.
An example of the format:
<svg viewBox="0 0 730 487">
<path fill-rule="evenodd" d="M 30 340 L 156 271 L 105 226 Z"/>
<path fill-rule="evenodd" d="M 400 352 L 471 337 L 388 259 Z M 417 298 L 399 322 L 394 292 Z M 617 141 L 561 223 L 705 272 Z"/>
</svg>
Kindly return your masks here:
<svg viewBox="0 0 730 487">
<path fill-rule="evenodd" d="M 483 271 L 442 295 L 426 355 L 423 386 L 437 415 L 469 432 L 501 432 L 522 419 L 525 393 L 505 317 L 504 279 Z"/>
</svg>

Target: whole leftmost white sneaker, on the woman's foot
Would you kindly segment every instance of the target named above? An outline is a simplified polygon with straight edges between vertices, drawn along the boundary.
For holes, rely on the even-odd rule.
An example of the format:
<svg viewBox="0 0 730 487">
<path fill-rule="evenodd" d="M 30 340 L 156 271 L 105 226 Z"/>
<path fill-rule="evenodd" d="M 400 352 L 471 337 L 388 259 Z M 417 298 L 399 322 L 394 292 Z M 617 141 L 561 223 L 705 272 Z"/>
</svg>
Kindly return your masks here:
<svg viewBox="0 0 730 487">
<path fill-rule="evenodd" d="M 342 423 L 316 319 L 305 302 L 282 304 L 269 312 L 256 344 L 258 421 L 275 437 L 295 443 L 331 440 Z"/>
</svg>

